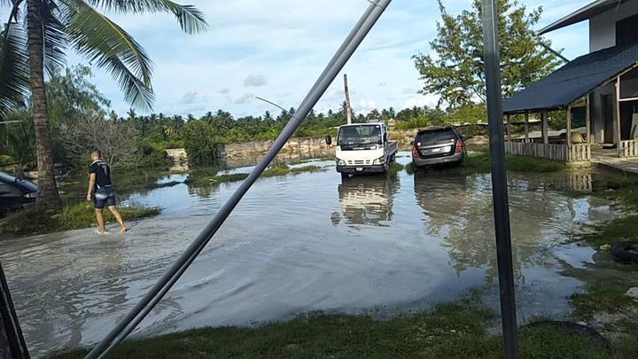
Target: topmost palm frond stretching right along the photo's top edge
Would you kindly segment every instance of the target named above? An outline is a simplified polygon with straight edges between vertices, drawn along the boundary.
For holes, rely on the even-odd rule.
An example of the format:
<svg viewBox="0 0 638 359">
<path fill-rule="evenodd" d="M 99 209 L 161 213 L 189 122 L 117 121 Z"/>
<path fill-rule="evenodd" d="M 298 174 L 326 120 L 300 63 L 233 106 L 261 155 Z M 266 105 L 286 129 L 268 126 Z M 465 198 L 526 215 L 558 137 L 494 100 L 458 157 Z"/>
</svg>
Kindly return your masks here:
<svg viewBox="0 0 638 359">
<path fill-rule="evenodd" d="M 208 24 L 203 12 L 193 5 L 176 4 L 170 0 L 86 0 L 88 4 L 112 12 L 169 12 L 175 15 L 187 34 L 206 32 Z"/>
</svg>

